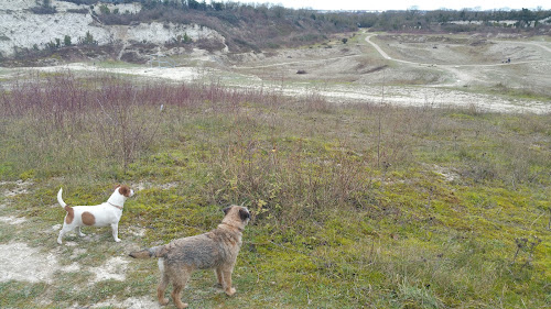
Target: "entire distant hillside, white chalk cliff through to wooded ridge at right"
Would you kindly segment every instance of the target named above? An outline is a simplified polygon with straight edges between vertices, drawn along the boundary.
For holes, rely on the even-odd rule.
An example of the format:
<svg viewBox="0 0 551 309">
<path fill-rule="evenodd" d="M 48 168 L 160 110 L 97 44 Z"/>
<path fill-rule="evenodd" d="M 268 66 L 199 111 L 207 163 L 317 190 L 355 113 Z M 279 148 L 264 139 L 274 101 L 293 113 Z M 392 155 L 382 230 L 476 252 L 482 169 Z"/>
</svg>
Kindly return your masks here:
<svg viewBox="0 0 551 309">
<path fill-rule="evenodd" d="M 551 11 L 320 12 L 195 0 L 4 0 L 0 62 L 145 63 L 150 54 L 261 52 L 318 43 L 370 27 L 398 32 L 551 34 Z"/>
</svg>

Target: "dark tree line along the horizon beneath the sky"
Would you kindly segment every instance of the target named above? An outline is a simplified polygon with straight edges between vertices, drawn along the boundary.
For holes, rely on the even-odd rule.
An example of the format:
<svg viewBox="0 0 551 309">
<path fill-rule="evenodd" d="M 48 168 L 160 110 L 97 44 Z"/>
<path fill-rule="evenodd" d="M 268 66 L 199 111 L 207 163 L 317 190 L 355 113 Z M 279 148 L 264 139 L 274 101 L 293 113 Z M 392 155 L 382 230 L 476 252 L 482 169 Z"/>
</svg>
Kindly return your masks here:
<svg viewBox="0 0 551 309">
<path fill-rule="evenodd" d="M 72 2 L 76 4 L 98 4 L 97 0 L 62 0 L 66 2 Z M 104 14 L 111 15 L 108 19 L 110 23 L 128 23 L 128 20 L 142 20 L 148 16 L 151 18 L 152 14 L 147 13 L 147 11 L 165 11 L 171 10 L 177 13 L 179 11 L 195 13 L 206 13 L 220 18 L 226 22 L 236 23 L 239 18 L 244 15 L 250 15 L 251 12 L 260 13 L 264 18 L 270 19 L 289 19 L 296 20 L 299 18 L 310 18 L 316 21 L 326 21 L 334 23 L 334 25 L 341 30 L 348 27 L 374 27 L 376 30 L 392 31 L 402 29 L 424 29 L 431 30 L 431 25 L 442 25 L 451 22 L 478 22 L 484 26 L 504 26 L 501 22 L 504 21 L 515 21 L 515 23 L 508 23 L 507 26 L 514 29 L 527 29 L 527 27 L 542 27 L 551 25 L 551 10 L 530 10 L 522 8 L 521 10 L 486 10 L 478 11 L 474 9 L 462 9 L 462 10 L 392 10 L 392 11 L 318 11 L 312 9 L 289 9 L 279 4 L 272 3 L 242 3 L 242 2 L 222 2 L 222 1 L 197 1 L 197 0 L 104 0 L 102 3 L 109 2 L 114 4 L 119 3 L 141 3 L 143 10 L 142 12 L 125 13 L 118 11 L 117 14 Z M 174 11 L 175 10 L 175 11 Z M 133 18 L 128 19 L 128 16 L 119 18 L 112 15 L 133 15 Z M 163 16 L 153 15 L 160 18 Z M 460 31 L 462 29 L 458 29 Z M 476 30 L 473 27 L 464 27 L 463 31 Z"/>
</svg>

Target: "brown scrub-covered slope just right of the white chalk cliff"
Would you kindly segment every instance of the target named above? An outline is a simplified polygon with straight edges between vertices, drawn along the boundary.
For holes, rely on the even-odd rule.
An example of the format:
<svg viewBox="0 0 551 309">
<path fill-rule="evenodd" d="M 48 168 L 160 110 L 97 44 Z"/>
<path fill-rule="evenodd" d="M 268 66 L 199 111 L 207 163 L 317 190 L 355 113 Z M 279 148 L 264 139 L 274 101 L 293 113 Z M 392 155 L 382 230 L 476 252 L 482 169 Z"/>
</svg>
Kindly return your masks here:
<svg viewBox="0 0 551 309">
<path fill-rule="evenodd" d="M 357 23 L 350 20 L 352 15 L 348 13 L 322 14 L 312 10 L 267 4 L 215 2 L 210 5 L 192 2 L 188 4 L 182 4 L 180 1 L 143 1 L 142 10 L 136 14 L 102 13 L 97 18 L 107 25 L 158 21 L 207 26 L 226 38 L 231 52 L 301 46 L 322 42 L 334 33 L 357 30 Z M 203 42 L 203 45 L 205 44 L 208 43 Z M 207 47 L 216 48 L 222 49 L 217 46 Z"/>
</svg>

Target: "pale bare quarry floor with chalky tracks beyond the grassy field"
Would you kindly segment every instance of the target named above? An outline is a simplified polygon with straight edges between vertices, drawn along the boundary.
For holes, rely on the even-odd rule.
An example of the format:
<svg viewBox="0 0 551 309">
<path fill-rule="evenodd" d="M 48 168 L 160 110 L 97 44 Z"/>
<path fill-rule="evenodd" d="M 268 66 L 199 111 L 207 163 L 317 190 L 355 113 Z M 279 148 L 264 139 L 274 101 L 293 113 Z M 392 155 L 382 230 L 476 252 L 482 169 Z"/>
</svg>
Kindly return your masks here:
<svg viewBox="0 0 551 309">
<path fill-rule="evenodd" d="M 518 85 L 515 84 L 518 80 L 514 82 L 514 85 L 516 85 L 515 87 L 520 89 L 529 86 L 531 87 L 531 84 L 527 84 L 526 80 L 530 80 L 532 77 L 534 80 L 540 80 L 539 87 L 542 87 L 541 85 L 544 85 L 545 79 L 544 77 L 541 77 L 541 75 L 545 70 L 545 67 L 550 66 L 550 62 L 547 60 L 547 58 L 543 60 L 523 60 L 510 64 L 443 65 L 430 64 L 426 62 L 410 62 L 393 58 L 388 55 L 388 53 L 386 53 L 377 43 L 371 41 L 372 36 L 375 35 L 368 35 L 365 38 L 365 43 L 358 46 L 371 46 L 383 59 L 404 65 L 403 67 L 393 66 L 391 69 L 386 69 L 389 71 L 388 74 L 393 74 L 395 79 L 399 80 L 395 84 L 395 86 L 389 85 L 385 87 L 386 103 L 398 106 L 475 107 L 480 111 L 497 112 L 551 112 L 551 102 L 549 100 L 532 100 L 507 97 L 499 93 L 490 95 L 475 92 L 479 86 L 489 87 L 493 85 L 491 82 L 494 82 L 494 85 L 498 82 L 508 84 L 510 78 L 517 78 L 521 81 L 518 82 Z M 503 43 L 501 41 L 499 42 Z M 516 43 L 538 46 L 538 48 L 541 48 L 544 53 L 549 53 L 551 51 L 551 48 L 540 43 L 510 42 L 510 44 Z M 316 56 L 315 58 L 307 58 L 309 53 L 311 55 L 315 54 L 312 51 L 301 52 L 300 49 L 293 49 L 292 52 L 293 57 L 303 57 L 305 59 L 290 60 L 288 59 L 288 56 L 282 53 L 279 55 L 279 58 L 272 58 L 271 60 L 273 63 L 270 64 L 250 65 L 250 62 L 244 60 L 241 63 L 244 66 L 236 64 L 228 67 L 220 64 L 215 66 L 208 65 L 205 59 L 196 58 L 195 60 L 199 63 L 199 66 L 194 67 L 98 67 L 89 64 L 73 63 L 62 66 L 22 69 L 37 69 L 44 71 L 72 70 L 84 74 L 87 71 L 108 73 L 123 76 L 139 76 L 150 79 L 166 79 L 175 82 L 190 82 L 196 80 L 208 82 L 208 80 L 220 79 L 224 85 L 228 87 L 266 87 L 268 89 L 281 91 L 281 93 L 291 97 L 305 97 L 315 91 L 325 97 L 327 100 L 337 103 L 348 101 L 366 103 L 380 102 L 380 81 L 385 79 L 382 75 L 383 73 L 381 70 L 374 73 L 360 73 L 354 69 L 355 66 L 361 65 L 363 62 L 374 60 L 374 56 L 364 52 L 361 48 L 356 48 L 356 51 L 353 48 L 353 51 L 348 51 L 343 55 L 337 55 L 337 53 L 343 52 L 341 48 L 325 49 L 325 52 L 327 52 L 324 54 L 326 57 Z M 261 58 L 255 60 L 262 62 Z M 522 74 L 522 76 L 518 77 L 519 74 L 517 73 L 522 71 L 523 68 L 518 70 L 512 68 L 519 68 L 520 65 L 527 64 L 537 64 L 539 68 L 530 67 L 529 69 L 531 69 L 531 71 Z M 298 68 L 309 65 L 316 69 L 316 74 L 303 75 L 299 78 L 296 76 Z M 403 74 L 401 71 L 402 68 Z M 488 71 L 482 73 L 478 68 L 486 68 Z M 14 76 L 22 69 L 4 69 L 2 70 L 2 74 L 4 77 Z M 490 69 L 491 71 L 489 71 Z M 267 75 L 267 70 L 270 71 L 269 74 L 271 76 Z M 407 76 L 408 74 L 410 74 L 410 77 Z M 409 84 L 408 78 L 414 80 L 418 76 L 421 76 L 422 78 L 424 74 L 433 74 L 439 77 L 435 81 L 426 81 L 425 84 L 419 85 L 413 85 L 414 82 L 411 85 Z M 324 77 L 331 78 L 333 75 L 344 75 L 345 78 L 352 77 L 353 80 L 360 81 L 339 82 L 335 78 L 333 79 L 336 81 L 324 81 Z M 496 81 L 495 76 L 498 76 L 500 80 Z M 361 81 L 364 78 L 367 78 L 367 81 Z M 400 81 L 401 78 L 403 78 L 403 81 Z M 279 81 L 277 79 L 279 79 Z M 321 79 L 324 84 L 320 84 L 320 80 L 317 79 Z M 284 86 L 282 86 L 281 80 L 285 81 Z M 421 80 L 424 82 L 423 79 Z M 320 87 L 320 85 L 322 86 Z M 465 88 L 471 86 L 473 86 L 475 91 L 472 91 L 471 88 Z"/>
</svg>

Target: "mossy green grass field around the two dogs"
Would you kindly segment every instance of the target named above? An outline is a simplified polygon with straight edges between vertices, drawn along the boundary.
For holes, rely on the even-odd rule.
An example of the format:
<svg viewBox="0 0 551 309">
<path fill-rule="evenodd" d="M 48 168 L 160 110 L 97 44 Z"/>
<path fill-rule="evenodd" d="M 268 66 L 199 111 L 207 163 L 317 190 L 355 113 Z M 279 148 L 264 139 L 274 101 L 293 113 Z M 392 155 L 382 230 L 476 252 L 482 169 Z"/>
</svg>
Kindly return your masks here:
<svg viewBox="0 0 551 309">
<path fill-rule="evenodd" d="M 108 76 L 10 85 L 0 91 L 0 179 L 34 184 L 0 198 L 0 216 L 28 219 L 0 225 L 2 244 L 99 266 L 132 245 L 213 229 L 224 206 L 244 203 L 253 220 L 238 294 L 215 293 L 214 275 L 198 273 L 184 291 L 191 308 L 551 305 L 549 114 L 335 106 L 315 93 Z M 125 206 L 122 243 L 104 230 L 91 242 L 69 238 L 79 249 L 57 246 L 58 188 L 68 202 L 94 203 L 116 183 L 140 188 Z M 132 261 L 123 282 L 90 284 L 89 271 L 11 280 L 0 307 L 154 299 L 156 276 L 153 261 Z"/>
</svg>

